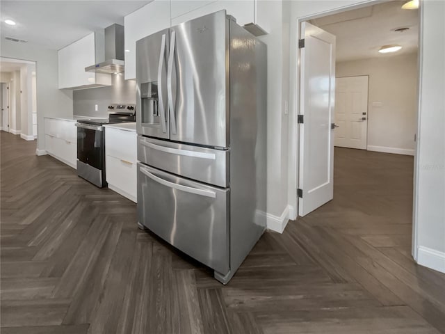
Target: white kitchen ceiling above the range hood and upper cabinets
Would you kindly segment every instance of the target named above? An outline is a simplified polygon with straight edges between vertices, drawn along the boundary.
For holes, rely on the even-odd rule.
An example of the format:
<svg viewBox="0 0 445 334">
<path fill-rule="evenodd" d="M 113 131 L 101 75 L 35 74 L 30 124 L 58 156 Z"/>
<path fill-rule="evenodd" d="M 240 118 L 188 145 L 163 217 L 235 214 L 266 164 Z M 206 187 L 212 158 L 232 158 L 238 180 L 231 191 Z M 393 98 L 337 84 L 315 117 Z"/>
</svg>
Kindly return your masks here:
<svg viewBox="0 0 445 334">
<path fill-rule="evenodd" d="M 110 26 L 124 24 L 124 16 L 145 6 L 145 1 L 5 1 L 1 0 L 1 39 L 13 37 L 30 45 L 61 49 Z M 17 24 L 8 26 L 5 19 Z"/>
</svg>

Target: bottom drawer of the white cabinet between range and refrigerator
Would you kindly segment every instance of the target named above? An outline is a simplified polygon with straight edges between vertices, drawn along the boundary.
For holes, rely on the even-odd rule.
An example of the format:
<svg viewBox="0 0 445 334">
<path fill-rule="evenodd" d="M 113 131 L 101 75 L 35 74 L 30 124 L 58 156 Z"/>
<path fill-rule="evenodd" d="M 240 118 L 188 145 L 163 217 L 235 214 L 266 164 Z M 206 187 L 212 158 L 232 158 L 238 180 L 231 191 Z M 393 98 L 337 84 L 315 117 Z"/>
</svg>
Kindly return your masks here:
<svg viewBox="0 0 445 334">
<path fill-rule="evenodd" d="M 105 166 L 108 187 L 136 202 L 136 163 L 107 155 Z"/>
</svg>

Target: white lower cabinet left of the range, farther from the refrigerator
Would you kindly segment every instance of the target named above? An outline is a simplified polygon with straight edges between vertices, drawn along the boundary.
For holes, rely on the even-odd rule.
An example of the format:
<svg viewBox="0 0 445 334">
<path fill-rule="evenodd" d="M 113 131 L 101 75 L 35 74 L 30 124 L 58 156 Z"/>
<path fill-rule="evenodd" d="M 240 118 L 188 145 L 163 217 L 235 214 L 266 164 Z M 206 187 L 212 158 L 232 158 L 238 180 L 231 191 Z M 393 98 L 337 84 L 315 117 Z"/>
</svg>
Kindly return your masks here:
<svg viewBox="0 0 445 334">
<path fill-rule="evenodd" d="M 76 169 L 77 164 L 77 130 L 76 122 L 45 118 L 44 146 L 51 157 Z"/>
</svg>

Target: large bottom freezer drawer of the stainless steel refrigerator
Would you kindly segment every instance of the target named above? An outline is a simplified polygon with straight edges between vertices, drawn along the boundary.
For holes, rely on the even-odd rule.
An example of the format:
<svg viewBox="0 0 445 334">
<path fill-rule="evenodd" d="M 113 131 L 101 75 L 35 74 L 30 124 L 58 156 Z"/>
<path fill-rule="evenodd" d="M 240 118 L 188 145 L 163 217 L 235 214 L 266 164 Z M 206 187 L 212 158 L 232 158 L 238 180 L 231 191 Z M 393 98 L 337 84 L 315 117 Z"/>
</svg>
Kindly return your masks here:
<svg viewBox="0 0 445 334">
<path fill-rule="evenodd" d="M 229 189 L 138 163 L 138 219 L 196 260 L 229 271 Z"/>
</svg>

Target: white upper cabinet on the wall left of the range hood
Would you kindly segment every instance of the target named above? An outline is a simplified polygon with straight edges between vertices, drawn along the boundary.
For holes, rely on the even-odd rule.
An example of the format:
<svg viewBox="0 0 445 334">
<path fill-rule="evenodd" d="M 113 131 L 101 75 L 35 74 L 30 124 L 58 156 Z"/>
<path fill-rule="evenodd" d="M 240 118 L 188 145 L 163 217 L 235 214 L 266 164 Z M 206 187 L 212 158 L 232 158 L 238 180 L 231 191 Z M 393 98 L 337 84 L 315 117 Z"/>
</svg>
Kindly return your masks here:
<svg viewBox="0 0 445 334">
<path fill-rule="evenodd" d="M 111 75 L 85 72 L 85 67 L 104 61 L 104 35 L 90 33 L 58 51 L 58 88 L 111 86 Z M 100 47 L 102 46 L 102 54 Z"/>
</svg>

